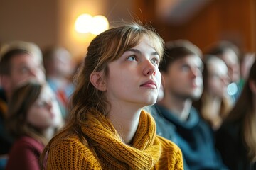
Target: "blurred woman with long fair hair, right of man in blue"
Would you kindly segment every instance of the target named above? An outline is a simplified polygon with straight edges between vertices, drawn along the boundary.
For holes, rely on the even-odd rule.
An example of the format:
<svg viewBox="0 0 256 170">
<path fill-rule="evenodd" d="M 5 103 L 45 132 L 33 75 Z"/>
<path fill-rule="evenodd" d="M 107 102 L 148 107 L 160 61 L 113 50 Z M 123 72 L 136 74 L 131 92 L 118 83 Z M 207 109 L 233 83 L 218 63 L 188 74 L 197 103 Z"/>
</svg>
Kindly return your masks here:
<svg viewBox="0 0 256 170">
<path fill-rule="evenodd" d="M 193 101 L 193 106 L 213 130 L 218 130 L 232 108 L 232 98 L 227 92 L 230 83 L 228 67 L 215 55 L 206 55 L 204 62 L 203 94 L 199 100 Z"/>
</svg>

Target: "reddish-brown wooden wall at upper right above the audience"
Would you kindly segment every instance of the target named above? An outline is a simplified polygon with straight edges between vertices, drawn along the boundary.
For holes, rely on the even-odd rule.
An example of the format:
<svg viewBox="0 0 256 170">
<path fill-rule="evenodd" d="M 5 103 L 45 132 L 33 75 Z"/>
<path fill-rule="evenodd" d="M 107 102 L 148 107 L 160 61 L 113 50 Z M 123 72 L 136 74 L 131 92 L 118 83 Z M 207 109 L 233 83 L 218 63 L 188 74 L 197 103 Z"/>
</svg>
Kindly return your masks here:
<svg viewBox="0 0 256 170">
<path fill-rule="evenodd" d="M 143 9 L 144 16 L 151 19 L 154 28 L 166 41 L 188 39 L 205 50 L 215 41 L 230 40 L 242 50 L 255 50 L 255 0 L 210 1 L 191 20 L 180 26 L 156 18 L 156 13 L 152 12 L 156 1 L 134 3 Z"/>
</svg>

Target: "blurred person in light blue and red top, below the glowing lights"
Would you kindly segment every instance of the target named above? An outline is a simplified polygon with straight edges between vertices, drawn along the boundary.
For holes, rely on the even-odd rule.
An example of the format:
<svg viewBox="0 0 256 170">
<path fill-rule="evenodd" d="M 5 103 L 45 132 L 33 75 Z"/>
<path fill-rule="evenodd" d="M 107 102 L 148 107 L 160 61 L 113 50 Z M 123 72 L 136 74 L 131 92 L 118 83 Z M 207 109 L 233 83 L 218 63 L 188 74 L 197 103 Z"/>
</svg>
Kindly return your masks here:
<svg viewBox="0 0 256 170">
<path fill-rule="evenodd" d="M 64 47 L 53 47 L 43 53 L 46 80 L 55 92 L 63 118 L 68 113 L 68 98 L 73 93 L 72 77 L 75 70 L 70 52 Z"/>
</svg>

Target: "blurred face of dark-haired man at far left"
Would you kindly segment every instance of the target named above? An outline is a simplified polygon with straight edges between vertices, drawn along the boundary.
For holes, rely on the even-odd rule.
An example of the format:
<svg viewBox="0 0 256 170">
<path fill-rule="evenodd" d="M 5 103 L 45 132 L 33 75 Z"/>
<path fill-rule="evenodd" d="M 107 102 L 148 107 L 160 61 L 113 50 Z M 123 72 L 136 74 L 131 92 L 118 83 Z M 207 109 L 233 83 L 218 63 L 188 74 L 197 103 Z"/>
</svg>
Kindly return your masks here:
<svg viewBox="0 0 256 170">
<path fill-rule="evenodd" d="M 36 57 L 28 54 L 20 54 L 12 57 L 11 72 L 9 75 L 11 89 L 14 89 L 21 81 L 31 78 L 41 82 L 46 80 L 41 62 Z"/>
</svg>

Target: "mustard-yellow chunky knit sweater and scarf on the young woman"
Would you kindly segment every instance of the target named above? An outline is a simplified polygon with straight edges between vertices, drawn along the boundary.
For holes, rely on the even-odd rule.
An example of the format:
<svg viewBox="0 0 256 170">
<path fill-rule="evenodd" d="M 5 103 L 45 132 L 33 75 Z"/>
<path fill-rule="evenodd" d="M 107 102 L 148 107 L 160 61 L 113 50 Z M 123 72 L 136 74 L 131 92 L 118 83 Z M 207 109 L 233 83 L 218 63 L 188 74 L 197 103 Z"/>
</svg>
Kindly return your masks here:
<svg viewBox="0 0 256 170">
<path fill-rule="evenodd" d="M 77 136 L 50 148 L 47 169 L 183 169 L 181 150 L 156 136 L 154 119 L 142 111 L 132 143 L 126 145 L 107 118 L 88 114 L 82 132 L 95 154 Z"/>
</svg>

